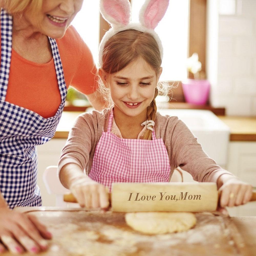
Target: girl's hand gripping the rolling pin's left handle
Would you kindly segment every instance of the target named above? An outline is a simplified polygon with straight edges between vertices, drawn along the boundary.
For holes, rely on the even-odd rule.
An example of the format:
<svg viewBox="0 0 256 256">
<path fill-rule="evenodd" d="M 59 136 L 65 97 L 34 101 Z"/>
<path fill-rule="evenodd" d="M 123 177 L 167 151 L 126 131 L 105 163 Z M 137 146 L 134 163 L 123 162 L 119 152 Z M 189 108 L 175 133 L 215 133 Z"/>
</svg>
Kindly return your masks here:
<svg viewBox="0 0 256 256">
<path fill-rule="evenodd" d="M 72 179 L 69 189 L 81 207 L 89 209 L 109 207 L 109 193 L 106 187 L 88 176 L 82 175 Z"/>
</svg>

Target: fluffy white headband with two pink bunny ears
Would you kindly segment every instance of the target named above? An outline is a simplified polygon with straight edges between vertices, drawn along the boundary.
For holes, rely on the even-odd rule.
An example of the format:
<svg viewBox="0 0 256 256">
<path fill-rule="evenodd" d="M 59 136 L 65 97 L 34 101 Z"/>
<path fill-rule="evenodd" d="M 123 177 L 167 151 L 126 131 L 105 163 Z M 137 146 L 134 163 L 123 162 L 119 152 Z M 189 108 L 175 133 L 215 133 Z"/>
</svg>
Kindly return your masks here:
<svg viewBox="0 0 256 256">
<path fill-rule="evenodd" d="M 105 33 L 100 42 L 100 67 L 102 67 L 102 53 L 105 42 L 118 32 L 128 29 L 151 34 L 158 44 L 161 59 L 163 59 L 163 46 L 154 28 L 163 18 L 168 4 L 169 0 L 146 0 L 140 10 L 140 23 L 130 23 L 132 10 L 129 0 L 100 0 L 100 12 L 103 18 L 111 25 L 111 29 Z"/>
</svg>

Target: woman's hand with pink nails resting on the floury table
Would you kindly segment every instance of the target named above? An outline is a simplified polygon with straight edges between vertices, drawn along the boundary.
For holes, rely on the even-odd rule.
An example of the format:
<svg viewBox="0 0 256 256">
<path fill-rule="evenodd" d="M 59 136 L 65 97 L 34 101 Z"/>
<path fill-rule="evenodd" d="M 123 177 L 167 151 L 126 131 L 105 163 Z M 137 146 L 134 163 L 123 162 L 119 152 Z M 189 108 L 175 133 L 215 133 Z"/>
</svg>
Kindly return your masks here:
<svg viewBox="0 0 256 256">
<path fill-rule="evenodd" d="M 0 254 L 5 247 L 12 253 L 37 253 L 48 248 L 51 233 L 35 216 L 0 207 Z M 4 247 L 5 246 L 5 247 Z"/>
</svg>

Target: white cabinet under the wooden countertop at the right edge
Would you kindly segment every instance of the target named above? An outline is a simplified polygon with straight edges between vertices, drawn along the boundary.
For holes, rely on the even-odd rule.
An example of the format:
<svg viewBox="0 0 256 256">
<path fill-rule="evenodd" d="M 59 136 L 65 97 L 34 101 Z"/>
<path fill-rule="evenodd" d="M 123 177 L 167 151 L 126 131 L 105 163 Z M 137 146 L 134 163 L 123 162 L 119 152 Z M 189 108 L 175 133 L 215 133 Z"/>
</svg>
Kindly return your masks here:
<svg viewBox="0 0 256 256">
<path fill-rule="evenodd" d="M 231 141 L 227 170 L 256 187 L 256 142 Z M 228 210 L 231 216 L 256 216 L 256 201 Z"/>
</svg>

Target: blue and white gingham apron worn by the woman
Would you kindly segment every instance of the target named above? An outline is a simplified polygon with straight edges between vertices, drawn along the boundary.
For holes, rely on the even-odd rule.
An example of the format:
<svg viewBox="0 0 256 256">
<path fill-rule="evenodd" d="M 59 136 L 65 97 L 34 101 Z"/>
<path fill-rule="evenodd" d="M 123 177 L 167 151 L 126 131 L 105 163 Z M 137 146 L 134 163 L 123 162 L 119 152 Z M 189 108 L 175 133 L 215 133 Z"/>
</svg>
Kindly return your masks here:
<svg viewBox="0 0 256 256">
<path fill-rule="evenodd" d="M 55 116 L 43 118 L 31 110 L 5 101 L 12 55 L 12 16 L 1 10 L 0 191 L 10 208 L 42 204 L 37 186 L 36 145 L 44 144 L 54 136 L 67 94 L 57 43 L 50 37 L 49 41 L 61 104 Z"/>
</svg>

